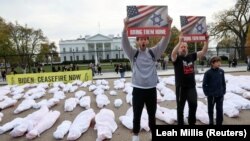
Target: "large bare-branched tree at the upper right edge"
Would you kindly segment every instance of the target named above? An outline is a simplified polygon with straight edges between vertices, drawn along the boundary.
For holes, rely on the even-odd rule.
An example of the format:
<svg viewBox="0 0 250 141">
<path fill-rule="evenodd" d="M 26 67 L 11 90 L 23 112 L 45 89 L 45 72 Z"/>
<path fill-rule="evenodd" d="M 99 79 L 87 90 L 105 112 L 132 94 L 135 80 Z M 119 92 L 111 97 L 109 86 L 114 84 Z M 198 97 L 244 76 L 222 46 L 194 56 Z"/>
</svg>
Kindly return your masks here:
<svg viewBox="0 0 250 141">
<path fill-rule="evenodd" d="M 218 40 L 235 38 L 235 47 L 240 48 L 240 57 L 245 57 L 244 48 L 250 22 L 249 0 L 237 0 L 235 7 L 215 15 L 216 21 L 210 24 L 210 36 Z"/>
</svg>

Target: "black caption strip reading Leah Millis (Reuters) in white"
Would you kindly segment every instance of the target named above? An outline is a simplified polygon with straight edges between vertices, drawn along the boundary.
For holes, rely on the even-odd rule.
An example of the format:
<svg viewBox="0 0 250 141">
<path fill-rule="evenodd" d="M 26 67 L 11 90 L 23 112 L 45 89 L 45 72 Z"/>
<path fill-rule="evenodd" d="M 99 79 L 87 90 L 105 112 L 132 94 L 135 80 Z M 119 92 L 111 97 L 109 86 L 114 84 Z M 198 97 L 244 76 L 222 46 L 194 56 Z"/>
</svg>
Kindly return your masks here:
<svg viewBox="0 0 250 141">
<path fill-rule="evenodd" d="M 157 125 L 153 134 L 153 140 L 183 138 L 218 140 L 226 137 L 232 139 L 249 140 L 248 133 L 250 125 L 223 125 L 223 126 L 177 126 L 177 125 Z"/>
</svg>

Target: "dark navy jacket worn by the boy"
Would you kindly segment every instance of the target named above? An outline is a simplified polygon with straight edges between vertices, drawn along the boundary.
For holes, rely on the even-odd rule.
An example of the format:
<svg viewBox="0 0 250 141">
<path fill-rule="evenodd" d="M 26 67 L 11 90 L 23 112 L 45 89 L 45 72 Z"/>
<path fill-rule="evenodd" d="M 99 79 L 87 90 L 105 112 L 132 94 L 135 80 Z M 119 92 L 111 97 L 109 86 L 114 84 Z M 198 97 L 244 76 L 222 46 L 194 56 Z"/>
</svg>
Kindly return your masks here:
<svg viewBox="0 0 250 141">
<path fill-rule="evenodd" d="M 224 71 L 220 68 L 207 70 L 204 74 L 202 88 L 206 96 L 223 96 L 226 93 Z"/>
</svg>

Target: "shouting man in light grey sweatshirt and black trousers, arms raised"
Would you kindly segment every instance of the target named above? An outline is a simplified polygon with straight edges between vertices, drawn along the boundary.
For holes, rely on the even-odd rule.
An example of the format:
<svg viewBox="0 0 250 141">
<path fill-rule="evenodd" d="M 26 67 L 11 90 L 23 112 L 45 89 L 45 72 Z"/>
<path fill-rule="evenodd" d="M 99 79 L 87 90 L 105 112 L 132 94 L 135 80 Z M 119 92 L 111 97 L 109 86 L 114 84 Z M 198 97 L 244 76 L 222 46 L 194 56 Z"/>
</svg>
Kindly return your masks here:
<svg viewBox="0 0 250 141">
<path fill-rule="evenodd" d="M 139 7 L 139 6 L 138 6 Z M 156 7 L 157 9 L 157 7 Z M 151 13 L 154 14 L 154 13 Z M 129 16 L 128 16 L 129 17 Z M 150 15 L 146 18 L 150 19 Z M 129 17 L 130 18 L 130 17 Z M 151 134 L 155 126 L 155 113 L 157 106 L 156 85 L 158 83 L 158 75 L 156 71 L 156 60 L 161 57 L 161 54 L 167 48 L 170 39 L 170 30 L 167 30 L 166 36 L 163 36 L 161 41 L 152 48 L 147 48 L 149 44 L 148 36 L 139 36 L 136 38 L 138 49 L 131 47 L 128 40 L 129 18 L 124 20 L 124 30 L 122 33 L 122 47 L 127 54 L 132 64 L 132 87 L 133 87 L 133 137 L 132 141 L 139 141 L 139 131 L 141 129 L 140 121 L 141 114 L 146 105 L 149 127 Z M 168 29 L 171 28 L 172 19 L 169 16 L 161 17 L 167 20 Z"/>
</svg>

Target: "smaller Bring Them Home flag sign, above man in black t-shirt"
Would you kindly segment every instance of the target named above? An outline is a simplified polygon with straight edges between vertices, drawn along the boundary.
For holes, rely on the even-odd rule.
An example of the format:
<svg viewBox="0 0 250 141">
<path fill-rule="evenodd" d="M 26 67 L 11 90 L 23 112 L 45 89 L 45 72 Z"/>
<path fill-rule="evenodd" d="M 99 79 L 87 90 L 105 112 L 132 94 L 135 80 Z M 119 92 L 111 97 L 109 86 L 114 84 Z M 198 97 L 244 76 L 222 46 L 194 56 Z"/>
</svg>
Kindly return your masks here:
<svg viewBox="0 0 250 141">
<path fill-rule="evenodd" d="M 206 17 L 180 16 L 181 32 L 186 42 L 205 41 L 207 36 Z"/>
</svg>

